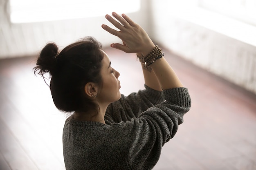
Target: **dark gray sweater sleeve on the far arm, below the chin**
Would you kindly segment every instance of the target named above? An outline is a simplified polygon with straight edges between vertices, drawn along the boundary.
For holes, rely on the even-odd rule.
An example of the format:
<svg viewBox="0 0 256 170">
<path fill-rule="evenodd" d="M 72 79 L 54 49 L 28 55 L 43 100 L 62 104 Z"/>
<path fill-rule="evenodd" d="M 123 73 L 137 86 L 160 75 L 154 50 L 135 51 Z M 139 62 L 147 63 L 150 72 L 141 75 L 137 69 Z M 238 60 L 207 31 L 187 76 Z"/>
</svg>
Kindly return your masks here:
<svg viewBox="0 0 256 170">
<path fill-rule="evenodd" d="M 160 104 L 164 101 L 161 91 L 153 90 L 144 85 L 144 90 L 131 93 L 127 97 L 121 95 L 117 102 L 110 104 L 106 110 L 105 121 L 107 124 L 118 123 L 120 121 L 130 121 L 133 117 L 138 117 L 140 113 Z"/>
</svg>

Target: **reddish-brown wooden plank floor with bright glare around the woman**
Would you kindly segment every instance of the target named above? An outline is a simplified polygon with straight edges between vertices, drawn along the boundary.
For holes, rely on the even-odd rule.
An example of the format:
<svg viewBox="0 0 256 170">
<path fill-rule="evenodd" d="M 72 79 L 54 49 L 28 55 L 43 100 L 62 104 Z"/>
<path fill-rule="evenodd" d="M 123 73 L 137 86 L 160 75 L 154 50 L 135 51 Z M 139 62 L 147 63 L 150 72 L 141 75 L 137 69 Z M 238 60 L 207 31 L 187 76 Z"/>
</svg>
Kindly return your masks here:
<svg viewBox="0 0 256 170">
<path fill-rule="evenodd" d="M 121 92 L 144 87 L 134 54 L 105 50 L 120 72 Z M 192 108 L 154 170 L 256 170 L 256 95 L 165 51 Z M 0 170 L 64 170 L 59 112 L 35 57 L 0 60 Z"/>
</svg>

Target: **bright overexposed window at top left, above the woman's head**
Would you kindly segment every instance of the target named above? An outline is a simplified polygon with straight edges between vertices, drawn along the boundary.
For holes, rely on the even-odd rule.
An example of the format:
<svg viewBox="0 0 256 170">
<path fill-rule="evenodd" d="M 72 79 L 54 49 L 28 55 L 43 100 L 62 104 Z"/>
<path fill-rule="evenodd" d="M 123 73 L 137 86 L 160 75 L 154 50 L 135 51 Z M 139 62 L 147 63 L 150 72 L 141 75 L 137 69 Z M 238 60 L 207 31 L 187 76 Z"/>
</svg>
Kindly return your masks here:
<svg viewBox="0 0 256 170">
<path fill-rule="evenodd" d="M 10 0 L 12 23 L 44 22 L 139 11 L 140 0 Z"/>
</svg>

